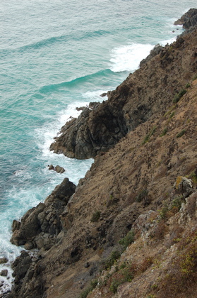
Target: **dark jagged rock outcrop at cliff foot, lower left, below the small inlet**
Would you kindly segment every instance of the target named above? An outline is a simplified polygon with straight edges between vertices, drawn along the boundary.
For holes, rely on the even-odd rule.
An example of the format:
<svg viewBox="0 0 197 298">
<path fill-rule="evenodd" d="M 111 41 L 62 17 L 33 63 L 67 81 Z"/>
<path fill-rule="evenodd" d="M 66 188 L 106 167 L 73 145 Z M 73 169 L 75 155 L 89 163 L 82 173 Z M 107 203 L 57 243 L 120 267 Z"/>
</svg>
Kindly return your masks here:
<svg viewBox="0 0 197 298">
<path fill-rule="evenodd" d="M 11 243 L 25 245 L 25 248 L 49 250 L 56 243 L 61 232 L 60 215 L 68 199 L 75 192 L 75 185 L 65 178 L 56 186 L 44 203 L 30 209 L 19 221 L 13 221 Z"/>
</svg>

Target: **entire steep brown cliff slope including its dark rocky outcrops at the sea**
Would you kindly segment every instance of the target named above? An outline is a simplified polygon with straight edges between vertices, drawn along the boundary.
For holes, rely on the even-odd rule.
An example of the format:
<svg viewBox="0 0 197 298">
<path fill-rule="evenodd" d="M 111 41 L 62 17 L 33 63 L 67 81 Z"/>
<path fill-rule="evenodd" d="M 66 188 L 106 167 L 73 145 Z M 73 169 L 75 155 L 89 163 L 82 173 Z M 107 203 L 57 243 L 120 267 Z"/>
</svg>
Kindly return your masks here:
<svg viewBox="0 0 197 298">
<path fill-rule="evenodd" d="M 160 49 L 62 129 L 56 152 L 98 154 L 76 189 L 64 180 L 14 222 L 12 242 L 39 251 L 4 297 L 196 297 L 196 41 Z"/>
</svg>

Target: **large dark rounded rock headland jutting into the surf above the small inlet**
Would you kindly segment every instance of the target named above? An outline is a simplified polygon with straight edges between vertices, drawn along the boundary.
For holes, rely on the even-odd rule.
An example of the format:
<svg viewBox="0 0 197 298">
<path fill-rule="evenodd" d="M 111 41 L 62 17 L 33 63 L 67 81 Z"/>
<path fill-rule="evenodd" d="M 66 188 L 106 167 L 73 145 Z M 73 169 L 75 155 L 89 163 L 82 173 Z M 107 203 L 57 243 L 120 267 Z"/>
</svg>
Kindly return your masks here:
<svg viewBox="0 0 197 298">
<path fill-rule="evenodd" d="M 105 151 L 126 135 L 127 129 L 117 106 L 106 102 L 85 108 L 61 128 L 61 136 L 50 146 L 54 153 L 64 153 L 69 158 L 92 158 L 98 151 Z"/>
</svg>

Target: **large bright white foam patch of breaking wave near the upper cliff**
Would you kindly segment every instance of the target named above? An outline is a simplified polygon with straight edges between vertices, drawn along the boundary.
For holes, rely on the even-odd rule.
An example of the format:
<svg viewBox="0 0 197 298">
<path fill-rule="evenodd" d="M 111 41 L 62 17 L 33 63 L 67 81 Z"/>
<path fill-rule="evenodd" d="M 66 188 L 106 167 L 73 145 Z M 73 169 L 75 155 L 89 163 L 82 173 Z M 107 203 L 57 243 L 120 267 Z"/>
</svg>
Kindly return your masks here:
<svg viewBox="0 0 197 298">
<path fill-rule="evenodd" d="M 112 66 L 110 69 L 113 72 L 122 72 L 124 70 L 133 72 L 138 68 L 141 60 L 148 56 L 153 47 L 150 44 L 130 43 L 129 45 L 114 48 L 111 53 L 112 58 L 110 61 Z"/>
</svg>

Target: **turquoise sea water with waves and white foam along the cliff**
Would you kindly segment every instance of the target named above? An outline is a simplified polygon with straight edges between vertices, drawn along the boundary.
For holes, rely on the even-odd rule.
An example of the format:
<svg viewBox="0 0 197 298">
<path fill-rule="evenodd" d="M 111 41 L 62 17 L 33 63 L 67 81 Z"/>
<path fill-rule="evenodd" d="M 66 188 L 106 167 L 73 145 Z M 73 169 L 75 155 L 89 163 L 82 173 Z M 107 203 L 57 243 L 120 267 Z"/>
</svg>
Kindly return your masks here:
<svg viewBox="0 0 197 298">
<path fill-rule="evenodd" d="M 196 1 L 4 0 L 0 3 L 0 258 L 11 245 L 11 223 L 43 202 L 64 177 L 78 183 L 93 160 L 49 152 L 76 106 L 102 101 L 138 68 L 154 45 L 182 32 L 173 23 Z M 179 30 L 177 30 L 179 29 Z M 172 32 L 174 31 L 174 33 Z M 60 175 L 47 165 L 61 165 Z"/>
</svg>

